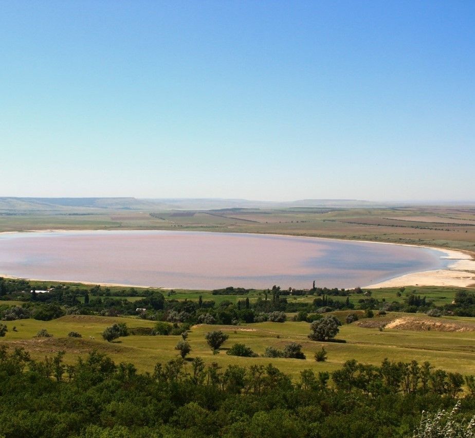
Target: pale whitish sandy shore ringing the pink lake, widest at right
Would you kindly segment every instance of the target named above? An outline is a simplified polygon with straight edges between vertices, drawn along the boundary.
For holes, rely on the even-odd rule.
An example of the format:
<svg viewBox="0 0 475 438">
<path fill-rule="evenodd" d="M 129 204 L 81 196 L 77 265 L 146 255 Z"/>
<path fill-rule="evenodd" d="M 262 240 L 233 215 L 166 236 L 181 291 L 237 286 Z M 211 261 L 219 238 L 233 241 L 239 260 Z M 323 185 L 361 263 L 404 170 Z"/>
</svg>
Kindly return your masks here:
<svg viewBox="0 0 475 438">
<path fill-rule="evenodd" d="M 0 231 L 1 234 L 23 234 L 23 233 L 67 233 L 67 232 L 107 232 L 107 231 L 165 231 L 173 233 L 175 230 L 117 230 L 117 229 L 90 229 L 90 230 L 66 230 L 66 229 L 45 229 L 45 230 L 22 230 L 22 231 Z M 184 230 L 188 231 L 188 230 Z M 215 231 L 192 231 L 192 232 L 210 232 L 215 233 Z M 227 234 L 233 234 L 233 232 L 223 232 Z M 434 269 L 421 272 L 410 272 L 405 275 L 397 276 L 390 278 L 388 280 L 380 281 L 374 284 L 369 284 L 361 286 L 364 289 L 376 289 L 381 287 L 405 287 L 405 286 L 453 286 L 453 287 L 475 287 L 475 258 L 473 253 L 470 251 L 465 251 L 461 249 L 451 249 L 451 248 L 440 248 L 427 245 L 417 245 L 417 244 L 406 244 L 406 243 L 395 243 L 395 242 L 375 242 L 368 240 L 354 240 L 354 239 L 333 239 L 333 238 L 324 238 L 316 236 L 306 236 L 306 235 L 295 235 L 295 234 L 278 234 L 278 233 L 248 233 L 248 232 L 235 232 L 235 234 L 250 234 L 250 235 L 270 235 L 270 236 L 285 236 L 285 237 L 294 237 L 294 238 L 306 238 L 306 239 L 318 239 L 318 240 L 331 240 L 331 241 L 343 241 L 343 242 L 360 242 L 360 243 L 374 243 L 374 244 L 383 244 L 383 245 L 400 245 L 400 246 L 410 246 L 417 248 L 426 248 L 434 251 L 443 252 L 446 254 L 443 259 L 454 260 L 454 263 L 450 264 L 446 269 Z M 150 286 L 150 285 L 131 285 L 131 284 L 121 284 L 121 283 L 97 283 L 97 282 L 88 282 L 88 281 L 75 281 L 75 280 L 41 280 L 41 279 L 31 279 L 11 276 L 8 274 L 0 274 L 0 277 L 10 278 L 10 279 L 24 279 L 30 281 L 54 281 L 54 282 L 64 282 L 64 283 L 81 283 L 85 285 L 96 285 L 100 284 L 105 287 L 140 287 L 140 288 L 152 288 L 152 289 L 161 289 L 161 290 L 170 290 L 173 288 L 170 287 L 161 287 L 161 286 Z M 179 287 L 175 287 L 180 289 Z M 193 290 L 193 289 L 190 289 Z M 208 289 L 196 289 L 196 290 L 208 290 Z M 211 290 L 211 289 L 209 289 Z"/>
</svg>

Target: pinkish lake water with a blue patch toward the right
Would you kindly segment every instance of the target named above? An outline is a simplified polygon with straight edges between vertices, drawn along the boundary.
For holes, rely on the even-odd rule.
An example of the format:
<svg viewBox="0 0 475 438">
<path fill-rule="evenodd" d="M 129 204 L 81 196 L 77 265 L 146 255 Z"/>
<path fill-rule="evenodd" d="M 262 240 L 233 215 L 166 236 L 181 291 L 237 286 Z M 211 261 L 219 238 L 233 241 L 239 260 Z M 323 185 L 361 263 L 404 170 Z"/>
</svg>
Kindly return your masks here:
<svg viewBox="0 0 475 438">
<path fill-rule="evenodd" d="M 428 248 L 291 236 L 188 231 L 0 234 L 0 275 L 214 289 L 367 286 L 447 266 Z"/>
</svg>

